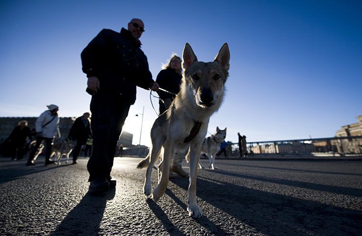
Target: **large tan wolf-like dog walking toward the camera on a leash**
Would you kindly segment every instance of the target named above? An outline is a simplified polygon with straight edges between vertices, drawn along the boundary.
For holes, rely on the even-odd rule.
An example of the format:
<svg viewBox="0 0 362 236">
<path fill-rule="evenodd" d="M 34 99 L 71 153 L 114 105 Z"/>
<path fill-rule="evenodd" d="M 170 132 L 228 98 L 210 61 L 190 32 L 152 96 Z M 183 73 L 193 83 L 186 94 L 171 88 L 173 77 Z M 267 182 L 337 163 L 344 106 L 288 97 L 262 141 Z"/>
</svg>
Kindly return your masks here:
<svg viewBox="0 0 362 236">
<path fill-rule="evenodd" d="M 196 204 L 197 163 L 209 119 L 223 102 L 230 53 L 225 43 L 214 61 L 197 61 L 191 46 L 186 43 L 182 57 L 184 75 L 180 92 L 167 112 L 155 120 L 151 129 L 152 148 L 148 156 L 139 162 L 138 168 L 147 166 L 143 192 L 150 195 L 152 167 L 164 147 L 162 176 L 152 193 L 153 200 L 157 202 L 167 188 L 169 163 L 173 155 L 176 151 L 185 152 L 189 149 L 190 185 L 187 210 L 190 216 L 201 217 L 202 211 Z"/>
</svg>

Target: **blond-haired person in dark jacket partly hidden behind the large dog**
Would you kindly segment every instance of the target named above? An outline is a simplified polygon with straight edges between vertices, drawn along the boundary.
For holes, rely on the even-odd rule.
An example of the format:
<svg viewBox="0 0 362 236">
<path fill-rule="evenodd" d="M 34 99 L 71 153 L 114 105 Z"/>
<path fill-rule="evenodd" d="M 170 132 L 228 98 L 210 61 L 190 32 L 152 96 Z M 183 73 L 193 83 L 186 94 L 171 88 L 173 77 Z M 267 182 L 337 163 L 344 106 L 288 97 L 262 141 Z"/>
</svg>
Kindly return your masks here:
<svg viewBox="0 0 362 236">
<path fill-rule="evenodd" d="M 182 81 L 182 68 L 181 58 L 176 54 L 172 54 L 167 64 L 162 66 L 163 70 L 158 73 L 156 82 L 160 88 L 165 89 L 169 92 L 165 92 L 161 89 L 157 91 L 160 96 L 159 100 L 159 112 L 163 114 L 171 105 L 175 94 L 180 91 L 180 84 Z M 174 155 L 170 170 L 179 176 L 187 177 L 188 173 L 182 169 L 182 160 L 185 158 L 183 153 L 177 153 Z"/>
</svg>

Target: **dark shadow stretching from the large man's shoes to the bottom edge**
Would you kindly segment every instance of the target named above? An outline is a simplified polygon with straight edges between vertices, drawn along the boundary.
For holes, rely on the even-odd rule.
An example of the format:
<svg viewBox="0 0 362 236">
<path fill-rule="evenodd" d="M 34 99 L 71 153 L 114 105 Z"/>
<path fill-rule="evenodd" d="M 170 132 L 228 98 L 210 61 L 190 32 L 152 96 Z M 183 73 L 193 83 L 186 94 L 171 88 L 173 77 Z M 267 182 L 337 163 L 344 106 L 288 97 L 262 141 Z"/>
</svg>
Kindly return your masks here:
<svg viewBox="0 0 362 236">
<path fill-rule="evenodd" d="M 85 194 L 81 202 L 58 225 L 52 236 L 98 235 L 107 201 L 113 199 L 114 195 L 114 188 L 102 196 Z"/>
</svg>

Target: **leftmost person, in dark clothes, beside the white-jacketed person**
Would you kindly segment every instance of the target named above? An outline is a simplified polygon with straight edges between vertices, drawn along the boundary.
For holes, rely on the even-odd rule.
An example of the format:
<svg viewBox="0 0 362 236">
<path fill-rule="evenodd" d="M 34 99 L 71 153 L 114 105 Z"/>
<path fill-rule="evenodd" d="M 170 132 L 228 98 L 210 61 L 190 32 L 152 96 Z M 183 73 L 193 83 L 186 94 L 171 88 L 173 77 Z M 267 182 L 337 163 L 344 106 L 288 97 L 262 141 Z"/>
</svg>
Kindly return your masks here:
<svg viewBox="0 0 362 236">
<path fill-rule="evenodd" d="M 9 143 L 11 145 L 12 160 L 23 159 L 25 154 L 25 144 L 28 140 L 31 140 L 30 129 L 28 127 L 28 121 L 22 120 L 13 129 L 9 135 Z"/>
</svg>

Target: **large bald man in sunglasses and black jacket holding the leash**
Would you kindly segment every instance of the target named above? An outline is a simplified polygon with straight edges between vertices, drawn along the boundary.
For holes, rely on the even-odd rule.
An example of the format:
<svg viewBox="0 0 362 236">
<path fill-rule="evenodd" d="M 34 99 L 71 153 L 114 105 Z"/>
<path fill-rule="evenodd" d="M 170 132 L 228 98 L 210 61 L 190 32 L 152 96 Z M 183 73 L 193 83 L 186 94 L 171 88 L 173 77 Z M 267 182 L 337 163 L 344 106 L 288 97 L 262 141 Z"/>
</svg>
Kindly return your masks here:
<svg viewBox="0 0 362 236">
<path fill-rule="evenodd" d="M 130 106 L 136 101 L 136 87 L 153 91 L 159 87 L 140 49 L 143 32 L 140 19 L 132 19 L 120 33 L 103 29 L 81 54 L 87 91 L 92 94 L 93 151 L 87 164 L 91 194 L 115 187 L 111 181 L 114 153 Z"/>
</svg>

